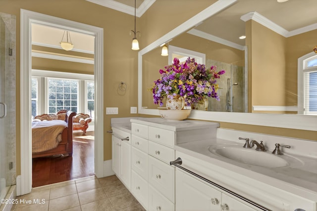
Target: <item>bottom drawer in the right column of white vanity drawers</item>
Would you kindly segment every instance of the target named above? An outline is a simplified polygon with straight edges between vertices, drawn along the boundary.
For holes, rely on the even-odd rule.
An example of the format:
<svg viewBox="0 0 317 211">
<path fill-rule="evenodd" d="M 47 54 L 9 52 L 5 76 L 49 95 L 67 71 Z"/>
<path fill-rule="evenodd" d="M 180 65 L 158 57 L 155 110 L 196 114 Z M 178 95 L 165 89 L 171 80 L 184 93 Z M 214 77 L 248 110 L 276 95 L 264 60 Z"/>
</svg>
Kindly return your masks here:
<svg viewBox="0 0 317 211">
<path fill-rule="evenodd" d="M 174 211 L 175 205 L 149 185 L 149 211 Z"/>
</svg>

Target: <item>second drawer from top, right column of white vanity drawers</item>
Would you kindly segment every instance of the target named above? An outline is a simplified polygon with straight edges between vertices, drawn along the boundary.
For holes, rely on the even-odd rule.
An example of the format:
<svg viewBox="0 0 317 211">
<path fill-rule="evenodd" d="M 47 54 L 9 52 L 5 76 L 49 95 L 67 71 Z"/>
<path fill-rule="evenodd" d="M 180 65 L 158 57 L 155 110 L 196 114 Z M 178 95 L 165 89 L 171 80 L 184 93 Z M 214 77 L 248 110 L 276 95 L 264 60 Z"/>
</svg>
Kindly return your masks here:
<svg viewBox="0 0 317 211">
<path fill-rule="evenodd" d="M 163 146 L 161 144 L 149 141 L 149 155 L 169 164 L 169 162 L 175 160 L 175 150 Z"/>
</svg>

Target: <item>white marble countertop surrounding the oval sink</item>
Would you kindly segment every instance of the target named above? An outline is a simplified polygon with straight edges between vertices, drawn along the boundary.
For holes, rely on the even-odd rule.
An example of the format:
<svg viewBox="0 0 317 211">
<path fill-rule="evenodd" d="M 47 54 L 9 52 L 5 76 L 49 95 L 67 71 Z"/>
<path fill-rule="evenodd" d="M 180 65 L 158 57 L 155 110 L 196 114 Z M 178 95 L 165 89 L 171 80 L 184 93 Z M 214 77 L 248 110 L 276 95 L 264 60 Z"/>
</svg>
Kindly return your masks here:
<svg viewBox="0 0 317 211">
<path fill-rule="evenodd" d="M 237 145 L 237 142 L 214 138 L 177 144 L 174 146 L 174 149 L 203 161 L 210 162 L 213 165 L 230 169 L 233 173 L 243 174 L 264 182 L 265 184 L 278 187 L 317 202 L 316 158 L 284 153 L 282 158 L 287 162 L 294 161 L 294 158 L 299 159 L 301 162 L 290 163 L 289 166 L 278 168 L 253 166 L 221 157 L 209 151 L 209 147 L 224 143 Z M 239 145 L 242 147 L 243 143 L 239 143 Z M 255 150 L 255 148 L 250 150 Z M 259 155 L 260 153 L 271 153 L 271 151 L 259 152 Z"/>
</svg>

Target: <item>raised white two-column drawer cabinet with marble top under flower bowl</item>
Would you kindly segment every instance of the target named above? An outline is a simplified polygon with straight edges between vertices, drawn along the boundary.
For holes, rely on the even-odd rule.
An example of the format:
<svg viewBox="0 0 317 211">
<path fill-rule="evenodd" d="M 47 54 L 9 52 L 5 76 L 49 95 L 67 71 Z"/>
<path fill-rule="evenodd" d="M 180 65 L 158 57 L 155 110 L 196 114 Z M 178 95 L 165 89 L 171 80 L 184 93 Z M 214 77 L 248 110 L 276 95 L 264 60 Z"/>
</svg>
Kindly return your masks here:
<svg viewBox="0 0 317 211">
<path fill-rule="evenodd" d="M 198 121 L 166 122 L 161 118 L 131 122 L 131 192 L 148 211 L 174 211 L 175 168 L 169 164 L 175 160 L 174 145 L 212 138 L 219 125 Z"/>
</svg>

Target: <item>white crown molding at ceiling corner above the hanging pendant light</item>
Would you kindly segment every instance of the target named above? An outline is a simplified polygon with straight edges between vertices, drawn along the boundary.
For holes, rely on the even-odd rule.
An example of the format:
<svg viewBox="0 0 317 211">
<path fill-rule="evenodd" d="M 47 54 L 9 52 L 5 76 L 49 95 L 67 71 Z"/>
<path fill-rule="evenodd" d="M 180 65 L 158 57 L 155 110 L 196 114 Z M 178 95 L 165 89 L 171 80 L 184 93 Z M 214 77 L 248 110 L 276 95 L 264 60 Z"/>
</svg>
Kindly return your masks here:
<svg viewBox="0 0 317 211">
<path fill-rule="evenodd" d="M 96 3 L 110 9 L 114 9 L 120 12 L 127 13 L 129 15 L 134 15 L 134 7 L 128 6 L 126 4 L 120 3 L 115 0 L 87 0 L 92 3 Z M 141 17 L 155 2 L 156 0 L 144 0 L 143 3 L 136 9 L 136 16 Z"/>
</svg>

